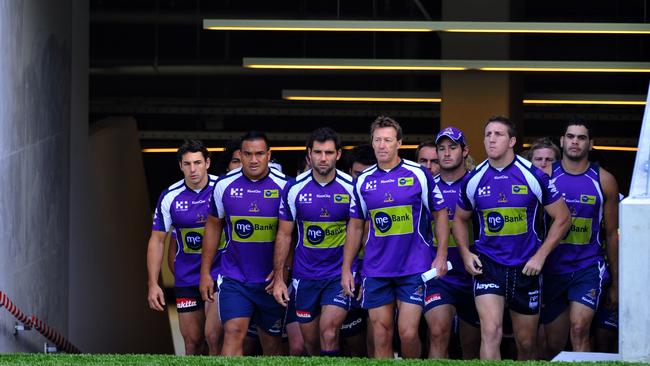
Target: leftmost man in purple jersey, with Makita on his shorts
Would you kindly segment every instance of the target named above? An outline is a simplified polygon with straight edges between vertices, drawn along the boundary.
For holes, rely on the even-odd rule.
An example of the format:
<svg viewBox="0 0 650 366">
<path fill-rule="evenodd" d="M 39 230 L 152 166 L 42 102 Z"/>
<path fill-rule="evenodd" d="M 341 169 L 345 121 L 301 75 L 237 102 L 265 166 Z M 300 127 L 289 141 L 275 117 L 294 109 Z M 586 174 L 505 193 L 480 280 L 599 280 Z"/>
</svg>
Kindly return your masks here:
<svg viewBox="0 0 650 366">
<path fill-rule="evenodd" d="M 165 298 L 158 285 L 158 276 L 165 235 L 173 226 L 178 247 L 174 261 L 174 290 L 185 354 L 202 353 L 204 333 L 210 354 L 218 354 L 222 329 L 216 306 L 214 303 L 204 306 L 198 288 L 204 225 L 210 212 L 210 197 L 217 177 L 208 174 L 210 153 L 200 141 L 185 141 L 178 149 L 177 156 L 185 178 L 160 195 L 149 238 L 149 307 L 164 310 Z M 214 261 L 208 263 L 207 270 L 212 275 L 217 274 Z"/>
</svg>

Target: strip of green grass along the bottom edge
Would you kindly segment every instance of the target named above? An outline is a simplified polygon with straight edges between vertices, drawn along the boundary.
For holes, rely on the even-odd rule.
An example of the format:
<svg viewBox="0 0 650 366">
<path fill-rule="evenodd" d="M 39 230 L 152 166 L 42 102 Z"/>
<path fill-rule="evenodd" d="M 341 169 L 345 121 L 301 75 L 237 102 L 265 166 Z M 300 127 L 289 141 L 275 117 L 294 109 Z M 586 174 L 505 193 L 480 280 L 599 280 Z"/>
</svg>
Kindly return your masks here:
<svg viewBox="0 0 650 366">
<path fill-rule="evenodd" d="M 360 358 L 324 357 L 209 357 L 209 356 L 171 356 L 171 355 L 46 355 L 46 354 L 4 354 L 0 355 L 0 365 L 228 365 L 228 366 L 292 366 L 292 365 L 353 365 L 353 366 L 550 366 L 544 361 L 458 361 L 458 360 L 369 360 Z M 631 366 L 647 365 L 623 362 L 576 362 L 559 363 L 553 366 Z"/>
</svg>

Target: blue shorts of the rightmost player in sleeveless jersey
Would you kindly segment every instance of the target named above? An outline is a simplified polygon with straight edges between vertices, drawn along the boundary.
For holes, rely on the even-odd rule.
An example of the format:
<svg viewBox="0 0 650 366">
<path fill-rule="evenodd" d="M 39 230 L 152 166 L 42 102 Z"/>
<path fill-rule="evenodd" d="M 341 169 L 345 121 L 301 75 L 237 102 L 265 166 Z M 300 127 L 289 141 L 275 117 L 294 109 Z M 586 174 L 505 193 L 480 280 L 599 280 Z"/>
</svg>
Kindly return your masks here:
<svg viewBox="0 0 650 366">
<path fill-rule="evenodd" d="M 555 320 L 570 302 L 577 302 L 596 311 L 605 284 L 605 263 L 598 261 L 575 272 L 544 274 L 544 306 L 542 324 Z"/>
</svg>

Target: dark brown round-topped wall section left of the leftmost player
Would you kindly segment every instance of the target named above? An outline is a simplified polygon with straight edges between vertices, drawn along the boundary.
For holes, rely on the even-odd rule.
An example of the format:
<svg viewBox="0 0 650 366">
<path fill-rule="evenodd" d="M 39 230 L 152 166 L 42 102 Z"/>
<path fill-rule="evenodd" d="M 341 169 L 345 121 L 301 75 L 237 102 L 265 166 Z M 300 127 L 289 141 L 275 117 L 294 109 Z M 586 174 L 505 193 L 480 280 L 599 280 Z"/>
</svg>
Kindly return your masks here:
<svg viewBox="0 0 650 366">
<path fill-rule="evenodd" d="M 92 236 L 71 242 L 70 339 L 90 353 L 173 353 L 167 314 L 146 300 L 152 211 L 135 120 L 94 123 L 88 152 Z"/>
</svg>

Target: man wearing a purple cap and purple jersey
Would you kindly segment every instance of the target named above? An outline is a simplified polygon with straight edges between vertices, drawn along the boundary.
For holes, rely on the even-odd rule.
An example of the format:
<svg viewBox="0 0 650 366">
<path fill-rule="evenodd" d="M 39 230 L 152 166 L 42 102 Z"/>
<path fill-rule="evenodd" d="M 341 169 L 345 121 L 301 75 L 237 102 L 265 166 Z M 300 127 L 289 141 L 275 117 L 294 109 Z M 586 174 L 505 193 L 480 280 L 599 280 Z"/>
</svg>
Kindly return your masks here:
<svg viewBox="0 0 650 366">
<path fill-rule="evenodd" d="M 469 147 L 465 142 L 463 131 L 455 127 L 447 127 L 440 131 L 435 143 L 440 161 L 440 175 L 434 177 L 434 180 L 442 191 L 449 225 L 453 227 L 461 183 L 469 175 L 465 169 L 465 158 L 469 154 Z M 453 237 L 449 238 L 447 259 L 452 264 L 451 271 L 444 277 L 427 282 L 424 298 L 424 316 L 429 325 L 429 358 L 449 357 L 449 339 L 455 312 L 460 319 L 463 358 L 475 359 L 479 357 L 481 333 L 472 296 L 472 276 L 465 271 L 463 259 Z"/>
</svg>

